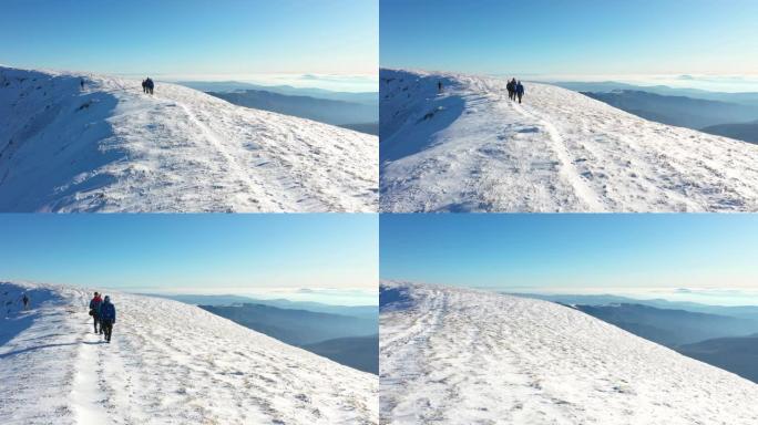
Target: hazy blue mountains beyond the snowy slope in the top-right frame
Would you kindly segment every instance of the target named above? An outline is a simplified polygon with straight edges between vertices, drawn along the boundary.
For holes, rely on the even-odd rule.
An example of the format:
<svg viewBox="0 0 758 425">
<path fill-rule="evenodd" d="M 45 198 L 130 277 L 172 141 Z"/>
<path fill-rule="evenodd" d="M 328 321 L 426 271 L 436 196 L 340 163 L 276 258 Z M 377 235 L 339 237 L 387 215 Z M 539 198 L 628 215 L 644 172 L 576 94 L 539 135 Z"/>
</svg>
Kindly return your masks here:
<svg viewBox="0 0 758 425">
<path fill-rule="evenodd" d="M 639 86 L 613 81 L 554 84 L 646 120 L 758 143 L 758 93 Z"/>
</svg>

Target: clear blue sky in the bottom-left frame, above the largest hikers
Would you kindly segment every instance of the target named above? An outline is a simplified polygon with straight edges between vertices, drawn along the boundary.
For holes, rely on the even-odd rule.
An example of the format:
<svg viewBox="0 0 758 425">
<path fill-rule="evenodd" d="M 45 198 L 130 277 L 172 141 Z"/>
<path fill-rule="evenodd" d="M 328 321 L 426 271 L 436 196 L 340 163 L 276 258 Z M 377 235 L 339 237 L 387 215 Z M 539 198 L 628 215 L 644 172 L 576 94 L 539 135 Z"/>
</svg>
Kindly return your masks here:
<svg viewBox="0 0 758 425">
<path fill-rule="evenodd" d="M 153 292 L 376 294 L 378 231 L 369 214 L 1 214 L 0 279 Z"/>
</svg>

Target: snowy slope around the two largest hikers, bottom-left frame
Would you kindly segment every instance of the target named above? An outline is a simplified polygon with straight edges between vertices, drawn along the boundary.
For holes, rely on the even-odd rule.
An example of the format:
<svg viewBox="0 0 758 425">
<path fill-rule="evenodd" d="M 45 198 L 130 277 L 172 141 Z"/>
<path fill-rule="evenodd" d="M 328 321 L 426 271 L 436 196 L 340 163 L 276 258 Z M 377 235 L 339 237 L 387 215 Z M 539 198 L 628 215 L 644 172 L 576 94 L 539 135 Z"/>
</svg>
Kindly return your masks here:
<svg viewBox="0 0 758 425">
<path fill-rule="evenodd" d="M 22 290 L 31 311 L 19 312 Z M 86 313 L 91 292 L 0 283 L 1 424 L 378 422 L 376 375 L 194 305 L 111 293 L 105 344 Z"/>
</svg>

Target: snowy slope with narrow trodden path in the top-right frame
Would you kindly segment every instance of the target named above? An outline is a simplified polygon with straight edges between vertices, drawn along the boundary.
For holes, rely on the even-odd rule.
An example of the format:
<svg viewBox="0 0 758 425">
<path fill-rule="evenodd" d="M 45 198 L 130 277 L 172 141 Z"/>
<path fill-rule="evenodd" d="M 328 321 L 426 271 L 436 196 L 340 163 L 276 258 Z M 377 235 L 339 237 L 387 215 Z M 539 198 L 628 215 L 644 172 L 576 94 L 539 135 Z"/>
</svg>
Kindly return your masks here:
<svg viewBox="0 0 758 425">
<path fill-rule="evenodd" d="M 758 146 L 580 93 L 380 72 L 383 211 L 756 211 Z M 443 93 L 438 94 L 437 83 Z"/>
</svg>

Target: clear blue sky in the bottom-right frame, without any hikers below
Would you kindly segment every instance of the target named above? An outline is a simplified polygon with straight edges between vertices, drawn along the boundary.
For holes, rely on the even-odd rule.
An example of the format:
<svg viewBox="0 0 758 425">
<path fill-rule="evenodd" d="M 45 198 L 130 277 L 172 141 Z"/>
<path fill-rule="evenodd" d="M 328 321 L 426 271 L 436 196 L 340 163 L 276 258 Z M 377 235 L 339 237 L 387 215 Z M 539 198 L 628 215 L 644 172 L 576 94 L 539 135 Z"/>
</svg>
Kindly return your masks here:
<svg viewBox="0 0 758 425">
<path fill-rule="evenodd" d="M 758 215 L 386 214 L 380 240 L 382 279 L 758 292 Z"/>
</svg>

